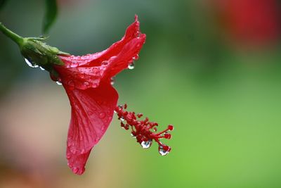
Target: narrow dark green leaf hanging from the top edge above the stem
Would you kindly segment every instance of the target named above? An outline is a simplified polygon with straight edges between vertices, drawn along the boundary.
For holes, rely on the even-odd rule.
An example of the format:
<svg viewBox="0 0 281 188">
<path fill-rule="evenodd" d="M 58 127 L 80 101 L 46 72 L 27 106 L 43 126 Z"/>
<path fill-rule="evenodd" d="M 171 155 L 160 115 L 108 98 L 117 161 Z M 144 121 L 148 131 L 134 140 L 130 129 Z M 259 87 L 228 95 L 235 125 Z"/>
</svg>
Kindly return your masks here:
<svg viewBox="0 0 281 188">
<path fill-rule="evenodd" d="M 46 13 L 43 20 L 43 32 L 46 33 L 55 22 L 58 14 L 56 0 L 46 0 Z"/>
</svg>

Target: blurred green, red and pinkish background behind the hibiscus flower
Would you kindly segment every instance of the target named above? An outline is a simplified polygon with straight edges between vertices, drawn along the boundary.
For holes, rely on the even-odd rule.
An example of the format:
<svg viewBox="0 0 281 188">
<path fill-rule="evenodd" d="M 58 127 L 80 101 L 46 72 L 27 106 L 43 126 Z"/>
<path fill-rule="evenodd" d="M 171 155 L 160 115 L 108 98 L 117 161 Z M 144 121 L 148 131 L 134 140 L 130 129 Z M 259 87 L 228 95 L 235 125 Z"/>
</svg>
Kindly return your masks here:
<svg viewBox="0 0 281 188">
<path fill-rule="evenodd" d="M 147 35 L 119 104 L 172 147 L 142 149 L 115 117 L 82 176 L 67 167 L 70 104 L 0 33 L 0 187 L 281 187 L 281 3 L 275 0 L 60 0 L 48 44 L 82 55 L 121 39 L 138 14 Z M 41 35 L 44 1 L 10 0 L 0 20 Z"/>
</svg>

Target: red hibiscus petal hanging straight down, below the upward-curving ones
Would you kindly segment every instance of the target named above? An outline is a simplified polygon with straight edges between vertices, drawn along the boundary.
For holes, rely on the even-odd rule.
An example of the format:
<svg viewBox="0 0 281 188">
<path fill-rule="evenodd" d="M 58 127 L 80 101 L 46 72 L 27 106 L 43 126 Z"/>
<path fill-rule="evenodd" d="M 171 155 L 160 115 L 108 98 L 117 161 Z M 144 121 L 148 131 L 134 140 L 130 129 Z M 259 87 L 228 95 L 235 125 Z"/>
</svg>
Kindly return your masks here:
<svg viewBox="0 0 281 188">
<path fill-rule="evenodd" d="M 109 83 L 97 88 L 72 89 L 64 84 L 72 106 L 67 135 L 67 160 L 72 171 L 81 175 L 89 153 L 109 126 L 118 94 Z"/>
</svg>

